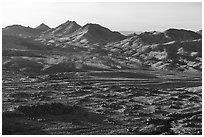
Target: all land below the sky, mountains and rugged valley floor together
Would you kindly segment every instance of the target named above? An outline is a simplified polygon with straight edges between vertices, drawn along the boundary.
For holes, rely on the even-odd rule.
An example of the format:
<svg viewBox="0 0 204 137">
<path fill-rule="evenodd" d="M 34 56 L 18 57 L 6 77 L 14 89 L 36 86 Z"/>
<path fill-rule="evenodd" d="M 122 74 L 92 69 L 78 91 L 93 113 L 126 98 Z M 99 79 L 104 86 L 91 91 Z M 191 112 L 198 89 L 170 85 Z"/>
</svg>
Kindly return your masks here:
<svg viewBox="0 0 204 137">
<path fill-rule="evenodd" d="M 202 30 L 4 27 L 2 133 L 201 135 Z"/>
</svg>

